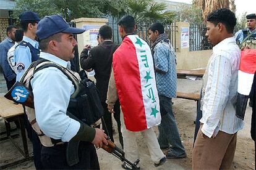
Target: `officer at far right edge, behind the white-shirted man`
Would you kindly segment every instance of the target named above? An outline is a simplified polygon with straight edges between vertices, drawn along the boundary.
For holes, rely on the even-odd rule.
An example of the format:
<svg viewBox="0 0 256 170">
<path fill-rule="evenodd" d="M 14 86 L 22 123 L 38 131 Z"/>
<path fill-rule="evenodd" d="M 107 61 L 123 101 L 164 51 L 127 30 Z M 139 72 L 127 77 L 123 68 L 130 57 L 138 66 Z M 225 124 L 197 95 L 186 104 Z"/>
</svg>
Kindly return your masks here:
<svg viewBox="0 0 256 170">
<path fill-rule="evenodd" d="M 244 38 L 247 37 L 248 34 L 252 33 L 256 29 L 256 14 L 246 15 L 247 19 L 247 29 L 239 30 L 235 34 L 236 42 L 241 44 Z M 256 32 L 250 36 L 251 39 L 256 39 Z"/>
</svg>

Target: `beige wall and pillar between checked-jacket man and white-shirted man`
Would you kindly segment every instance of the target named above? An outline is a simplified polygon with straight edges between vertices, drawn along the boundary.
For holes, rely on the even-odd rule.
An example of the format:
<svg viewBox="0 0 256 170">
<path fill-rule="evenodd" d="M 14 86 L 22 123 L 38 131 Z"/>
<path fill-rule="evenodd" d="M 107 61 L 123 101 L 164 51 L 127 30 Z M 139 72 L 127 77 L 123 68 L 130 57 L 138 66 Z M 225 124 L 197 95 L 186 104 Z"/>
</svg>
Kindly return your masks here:
<svg viewBox="0 0 256 170">
<path fill-rule="evenodd" d="M 205 51 L 189 51 L 189 47 L 181 48 L 181 28 L 189 28 L 187 22 L 176 22 L 176 55 L 177 69 L 195 69 L 207 67 L 212 50 Z"/>
</svg>

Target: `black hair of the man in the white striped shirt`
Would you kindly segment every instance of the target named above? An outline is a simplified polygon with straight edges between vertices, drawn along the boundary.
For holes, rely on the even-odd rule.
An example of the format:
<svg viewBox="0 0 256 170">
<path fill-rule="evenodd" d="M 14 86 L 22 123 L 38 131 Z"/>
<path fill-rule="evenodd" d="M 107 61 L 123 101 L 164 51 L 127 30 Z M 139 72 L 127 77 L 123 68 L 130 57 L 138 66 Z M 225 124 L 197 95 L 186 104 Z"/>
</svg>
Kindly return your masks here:
<svg viewBox="0 0 256 170">
<path fill-rule="evenodd" d="M 236 25 L 236 16 L 231 10 L 222 8 L 211 12 L 207 16 L 207 21 L 213 23 L 215 26 L 217 26 L 218 23 L 223 23 L 228 33 L 233 33 L 234 26 Z"/>
</svg>

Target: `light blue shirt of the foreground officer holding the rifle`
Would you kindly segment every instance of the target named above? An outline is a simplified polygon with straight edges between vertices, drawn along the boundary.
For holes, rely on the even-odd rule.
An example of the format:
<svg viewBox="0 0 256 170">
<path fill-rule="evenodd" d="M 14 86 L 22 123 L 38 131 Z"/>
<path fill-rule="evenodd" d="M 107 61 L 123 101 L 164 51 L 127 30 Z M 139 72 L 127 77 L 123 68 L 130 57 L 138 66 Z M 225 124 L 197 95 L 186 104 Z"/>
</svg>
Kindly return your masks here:
<svg viewBox="0 0 256 170">
<path fill-rule="evenodd" d="M 68 62 L 41 52 L 40 57 L 67 68 Z M 36 121 L 46 136 L 68 142 L 80 128 L 80 123 L 66 115 L 74 85 L 56 67 L 44 68 L 31 80 Z"/>
</svg>

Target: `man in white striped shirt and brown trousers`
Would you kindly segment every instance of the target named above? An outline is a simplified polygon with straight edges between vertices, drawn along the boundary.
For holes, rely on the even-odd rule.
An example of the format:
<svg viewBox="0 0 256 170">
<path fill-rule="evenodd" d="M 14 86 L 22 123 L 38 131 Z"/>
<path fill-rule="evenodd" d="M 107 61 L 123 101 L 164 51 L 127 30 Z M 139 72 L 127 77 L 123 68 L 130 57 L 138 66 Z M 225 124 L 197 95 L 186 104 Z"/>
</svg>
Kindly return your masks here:
<svg viewBox="0 0 256 170">
<path fill-rule="evenodd" d="M 241 51 L 233 36 L 236 17 L 218 9 L 207 17 L 208 41 L 213 52 L 202 87 L 202 119 L 192 154 L 193 169 L 232 169 L 237 131 L 244 122 L 236 117 L 237 74 Z"/>
</svg>

